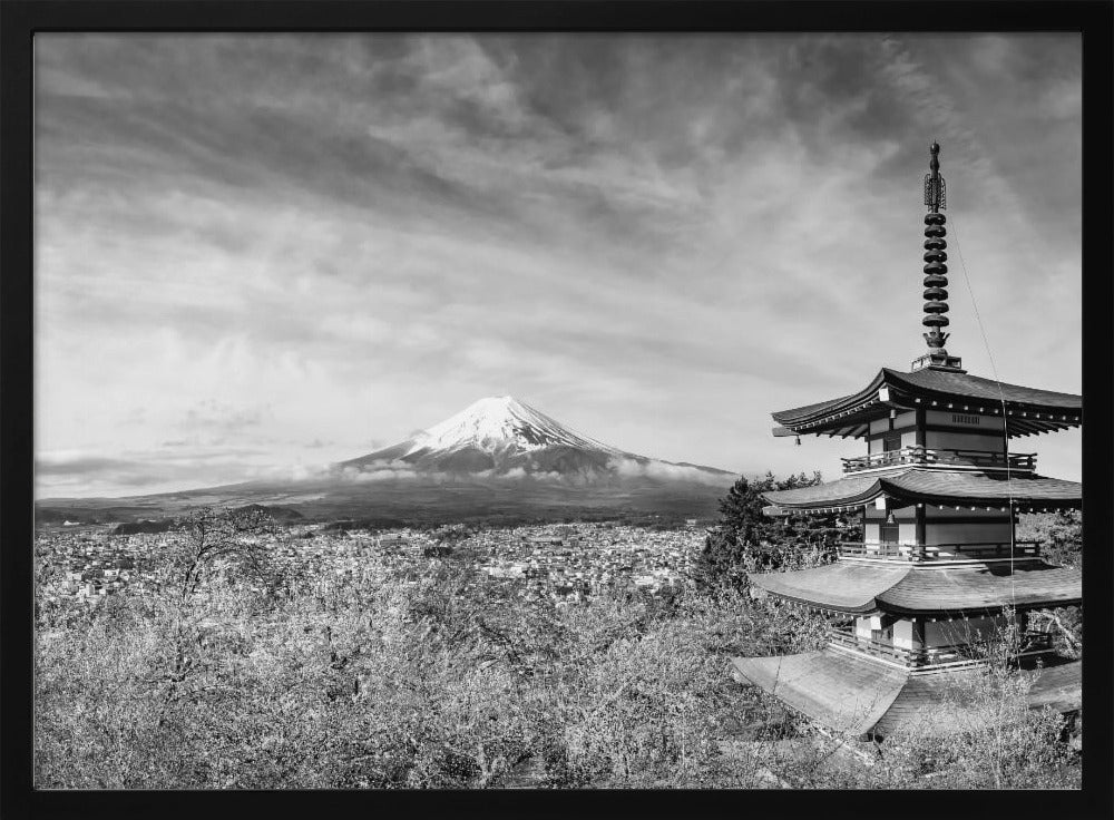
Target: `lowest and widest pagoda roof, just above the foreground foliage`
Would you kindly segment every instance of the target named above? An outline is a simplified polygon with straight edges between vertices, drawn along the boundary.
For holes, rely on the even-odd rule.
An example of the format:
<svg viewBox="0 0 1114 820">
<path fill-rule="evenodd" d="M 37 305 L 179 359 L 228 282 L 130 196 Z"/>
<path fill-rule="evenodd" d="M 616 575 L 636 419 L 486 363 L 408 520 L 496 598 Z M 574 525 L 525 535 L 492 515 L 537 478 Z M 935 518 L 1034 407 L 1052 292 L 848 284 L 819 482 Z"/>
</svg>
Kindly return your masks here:
<svg viewBox="0 0 1114 820">
<path fill-rule="evenodd" d="M 840 733 L 886 736 L 900 730 L 946 735 L 978 725 L 984 716 L 964 704 L 964 684 L 978 670 L 909 674 L 861 655 L 828 647 L 778 657 L 734 657 L 741 677 L 790 709 Z M 1079 707 L 1078 662 L 1019 674 L 1033 675 L 1030 709 Z"/>
</svg>

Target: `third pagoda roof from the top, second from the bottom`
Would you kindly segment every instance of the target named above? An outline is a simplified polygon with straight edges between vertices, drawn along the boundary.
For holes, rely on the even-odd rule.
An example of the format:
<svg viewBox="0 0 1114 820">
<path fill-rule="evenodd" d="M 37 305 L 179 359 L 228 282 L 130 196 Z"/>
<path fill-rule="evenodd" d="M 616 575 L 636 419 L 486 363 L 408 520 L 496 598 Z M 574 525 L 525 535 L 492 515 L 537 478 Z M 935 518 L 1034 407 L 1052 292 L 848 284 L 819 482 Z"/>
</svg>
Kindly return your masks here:
<svg viewBox="0 0 1114 820">
<path fill-rule="evenodd" d="M 751 584 L 780 598 L 849 614 L 958 614 L 1074 606 L 1083 601 L 1077 569 L 1040 559 L 945 566 L 839 560 L 812 569 L 754 573 Z"/>
</svg>

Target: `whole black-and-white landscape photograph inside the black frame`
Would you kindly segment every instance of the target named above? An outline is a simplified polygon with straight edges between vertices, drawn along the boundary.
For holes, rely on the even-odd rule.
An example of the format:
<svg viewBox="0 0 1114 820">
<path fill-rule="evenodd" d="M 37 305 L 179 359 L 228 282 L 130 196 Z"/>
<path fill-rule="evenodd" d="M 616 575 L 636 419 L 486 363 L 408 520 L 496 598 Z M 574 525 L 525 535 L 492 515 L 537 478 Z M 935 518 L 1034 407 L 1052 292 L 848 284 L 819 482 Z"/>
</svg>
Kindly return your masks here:
<svg viewBox="0 0 1114 820">
<path fill-rule="evenodd" d="M 1083 53 L 38 32 L 33 787 L 1081 789 Z"/>
</svg>

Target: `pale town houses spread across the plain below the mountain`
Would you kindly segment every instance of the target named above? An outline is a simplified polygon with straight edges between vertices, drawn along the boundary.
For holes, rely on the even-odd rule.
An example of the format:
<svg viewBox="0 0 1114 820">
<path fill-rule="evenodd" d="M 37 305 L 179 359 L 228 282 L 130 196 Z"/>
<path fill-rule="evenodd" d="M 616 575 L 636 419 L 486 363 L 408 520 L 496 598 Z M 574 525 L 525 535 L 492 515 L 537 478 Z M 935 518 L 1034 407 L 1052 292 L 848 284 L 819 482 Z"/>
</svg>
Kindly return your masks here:
<svg viewBox="0 0 1114 820">
<path fill-rule="evenodd" d="M 619 582 L 633 582 L 652 593 L 684 584 L 703 546 L 704 530 L 695 521 L 673 530 L 613 523 L 534 525 L 470 533 L 452 546 L 436 531 L 417 528 L 341 535 L 309 526 L 290 535 L 274 539 L 272 557 L 280 563 L 310 564 L 315 572 L 385 577 L 467 548 L 489 576 L 521 580 L 521 597 L 574 602 Z M 107 529 L 41 534 L 37 560 L 66 570 L 52 575 L 49 586 L 39 589 L 40 599 L 96 604 L 129 584 L 152 582 L 159 554 L 176 537 L 180 536 L 119 536 Z"/>
</svg>

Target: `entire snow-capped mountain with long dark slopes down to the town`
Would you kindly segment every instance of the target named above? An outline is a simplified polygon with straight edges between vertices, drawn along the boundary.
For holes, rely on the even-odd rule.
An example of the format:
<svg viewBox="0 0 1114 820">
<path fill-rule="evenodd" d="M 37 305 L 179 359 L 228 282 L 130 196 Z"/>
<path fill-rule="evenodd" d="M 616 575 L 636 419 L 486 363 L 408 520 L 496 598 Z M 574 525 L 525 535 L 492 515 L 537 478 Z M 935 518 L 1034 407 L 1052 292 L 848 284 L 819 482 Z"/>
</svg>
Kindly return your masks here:
<svg viewBox="0 0 1114 820">
<path fill-rule="evenodd" d="M 266 505 L 380 525 L 570 518 L 713 518 L 734 472 L 663 461 L 576 432 L 509 396 L 310 476 L 116 499 L 43 499 L 40 515 L 134 520 L 199 506 Z M 61 518 L 59 518 L 61 520 Z"/>
</svg>

